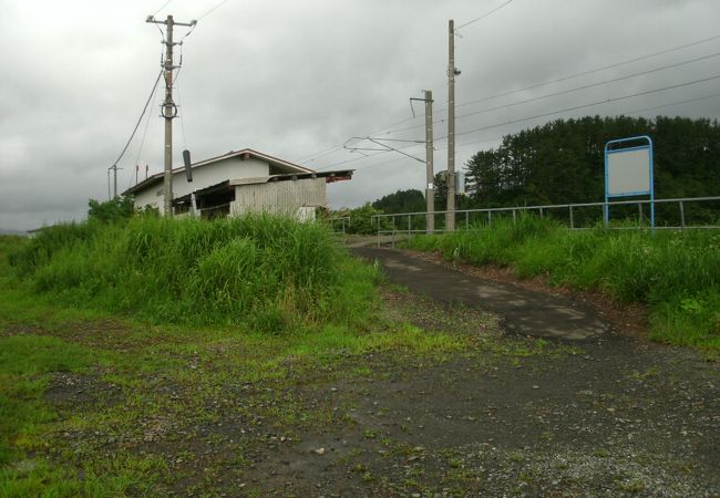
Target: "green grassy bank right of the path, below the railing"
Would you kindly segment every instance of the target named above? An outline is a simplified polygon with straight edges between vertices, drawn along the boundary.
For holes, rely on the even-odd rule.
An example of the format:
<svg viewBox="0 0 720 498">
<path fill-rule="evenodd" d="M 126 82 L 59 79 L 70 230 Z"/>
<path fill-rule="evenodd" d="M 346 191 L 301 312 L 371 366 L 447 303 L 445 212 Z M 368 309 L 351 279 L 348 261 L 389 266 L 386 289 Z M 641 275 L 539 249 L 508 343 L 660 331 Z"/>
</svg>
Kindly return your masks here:
<svg viewBox="0 0 720 498">
<path fill-rule="evenodd" d="M 720 351 L 718 231 L 569 231 L 525 216 L 491 228 L 415 237 L 408 246 L 449 260 L 512 267 L 520 278 L 546 276 L 553 286 L 599 290 L 618 303 L 649 307 L 650 336 Z"/>
</svg>

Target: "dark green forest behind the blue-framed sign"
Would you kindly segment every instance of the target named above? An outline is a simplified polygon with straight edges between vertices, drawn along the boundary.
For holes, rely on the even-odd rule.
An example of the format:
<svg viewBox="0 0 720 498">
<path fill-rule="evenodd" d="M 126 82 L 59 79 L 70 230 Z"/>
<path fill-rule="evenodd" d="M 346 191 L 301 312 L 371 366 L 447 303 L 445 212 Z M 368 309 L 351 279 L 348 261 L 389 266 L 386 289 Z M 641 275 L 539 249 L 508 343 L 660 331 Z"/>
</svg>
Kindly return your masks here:
<svg viewBox="0 0 720 498">
<path fill-rule="evenodd" d="M 656 198 L 720 194 L 720 126 L 683 117 L 558 120 L 507 135 L 465 165 L 473 207 L 604 200 L 608 141 L 652 138 Z"/>
</svg>

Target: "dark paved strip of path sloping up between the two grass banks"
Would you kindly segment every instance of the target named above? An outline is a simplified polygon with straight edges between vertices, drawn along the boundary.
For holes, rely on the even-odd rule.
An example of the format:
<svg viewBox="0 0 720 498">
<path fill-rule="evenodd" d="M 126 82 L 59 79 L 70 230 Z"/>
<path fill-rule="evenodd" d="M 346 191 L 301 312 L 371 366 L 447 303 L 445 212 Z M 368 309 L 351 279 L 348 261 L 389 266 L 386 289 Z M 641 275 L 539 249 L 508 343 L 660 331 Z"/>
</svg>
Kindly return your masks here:
<svg viewBox="0 0 720 498">
<path fill-rule="evenodd" d="M 483 280 L 394 249 L 360 247 L 352 251 L 378 260 L 391 282 L 438 301 L 464 303 L 497 313 L 506 330 L 524 335 L 585 341 L 605 334 L 609 323 L 588 307 L 559 295 Z"/>
</svg>

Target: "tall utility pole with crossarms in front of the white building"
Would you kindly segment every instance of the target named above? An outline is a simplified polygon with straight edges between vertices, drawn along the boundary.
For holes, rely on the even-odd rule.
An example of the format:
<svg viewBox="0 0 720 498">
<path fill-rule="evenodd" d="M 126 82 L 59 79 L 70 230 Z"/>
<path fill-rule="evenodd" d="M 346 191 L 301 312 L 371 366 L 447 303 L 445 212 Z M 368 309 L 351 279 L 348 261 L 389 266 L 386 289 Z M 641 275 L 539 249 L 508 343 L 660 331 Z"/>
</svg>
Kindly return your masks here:
<svg viewBox="0 0 720 498">
<path fill-rule="evenodd" d="M 167 30 L 165 34 L 165 61 L 162 64 L 165 76 L 165 102 L 163 102 L 163 117 L 165 118 L 165 174 L 163 175 L 163 190 L 165 194 L 164 214 L 165 216 L 173 216 L 173 120 L 177 117 L 177 106 L 173 102 L 173 46 L 176 45 L 173 41 L 173 28 L 176 25 L 184 25 L 192 28 L 197 24 L 197 21 L 177 22 L 172 15 L 168 15 L 165 21 L 157 21 L 153 15 L 150 15 L 146 22 L 153 24 L 165 24 Z"/>
</svg>

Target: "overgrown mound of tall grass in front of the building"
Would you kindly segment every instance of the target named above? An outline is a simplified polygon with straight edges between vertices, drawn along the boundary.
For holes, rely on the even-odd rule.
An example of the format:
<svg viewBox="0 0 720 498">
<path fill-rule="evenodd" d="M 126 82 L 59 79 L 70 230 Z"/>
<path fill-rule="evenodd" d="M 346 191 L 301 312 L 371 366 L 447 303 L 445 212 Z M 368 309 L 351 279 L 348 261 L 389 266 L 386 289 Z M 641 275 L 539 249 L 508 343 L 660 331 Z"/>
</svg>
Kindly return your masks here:
<svg viewBox="0 0 720 498">
<path fill-rule="evenodd" d="M 66 304 L 275 332 L 357 319 L 376 278 L 321 225 L 268 215 L 58 226 L 10 263 Z"/>
</svg>

